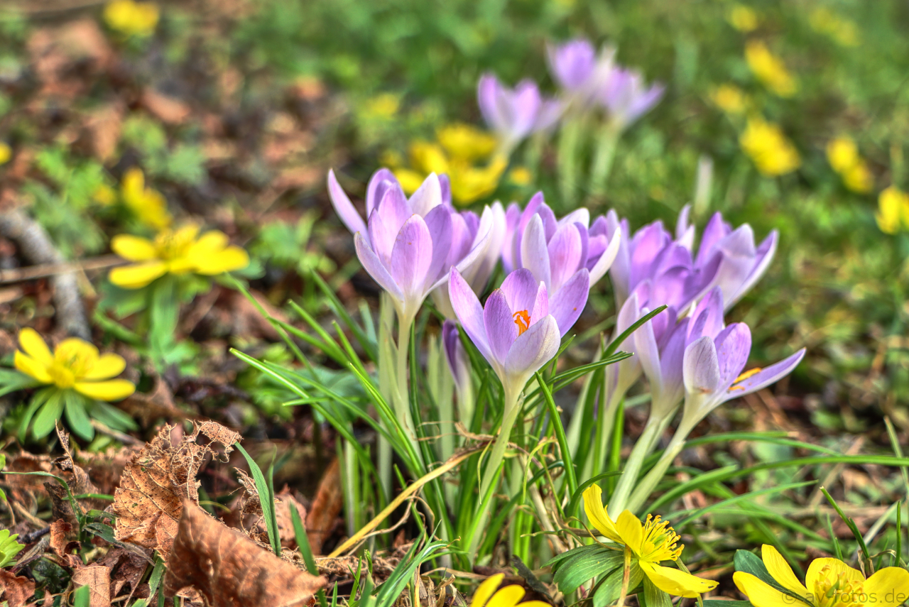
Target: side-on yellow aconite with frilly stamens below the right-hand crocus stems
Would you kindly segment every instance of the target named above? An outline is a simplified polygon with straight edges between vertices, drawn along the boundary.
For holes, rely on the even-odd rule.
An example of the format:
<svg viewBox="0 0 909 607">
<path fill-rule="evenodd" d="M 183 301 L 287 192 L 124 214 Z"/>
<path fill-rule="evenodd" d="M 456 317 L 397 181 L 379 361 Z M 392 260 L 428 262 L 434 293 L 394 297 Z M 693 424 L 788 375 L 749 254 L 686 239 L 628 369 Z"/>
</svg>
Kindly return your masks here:
<svg viewBox="0 0 909 607">
<path fill-rule="evenodd" d="M 668 522 L 661 521 L 659 516 L 648 514 L 647 520 L 642 524 L 627 510 L 613 521 L 603 507 L 602 493 L 595 484 L 584 490 L 584 512 L 587 519 L 606 539 L 630 550 L 632 567 L 640 567 L 654 586 L 663 592 L 689 598 L 716 587 L 717 582 L 713 580 L 703 580 L 691 573 L 659 564 L 662 561 L 677 560 L 684 548 L 677 546 L 679 536 Z"/>
</svg>

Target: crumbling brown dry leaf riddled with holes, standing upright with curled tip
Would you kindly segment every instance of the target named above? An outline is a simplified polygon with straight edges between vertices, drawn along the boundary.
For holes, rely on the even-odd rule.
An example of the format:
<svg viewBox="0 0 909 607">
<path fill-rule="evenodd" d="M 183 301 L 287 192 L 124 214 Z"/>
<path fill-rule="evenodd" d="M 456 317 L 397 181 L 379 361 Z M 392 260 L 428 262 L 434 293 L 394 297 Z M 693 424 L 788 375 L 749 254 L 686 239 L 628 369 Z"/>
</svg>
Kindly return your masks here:
<svg viewBox="0 0 909 607">
<path fill-rule="evenodd" d="M 151 443 L 126 464 L 120 487 L 114 493 L 117 515 L 115 537 L 122 542 L 154 548 L 167 558 L 185 500 L 198 503 L 195 480 L 205 456 L 217 453 L 214 443 L 224 445 L 225 458 L 240 435 L 220 423 L 205 422 L 179 444 L 171 443 L 175 426 L 165 425 Z M 211 443 L 196 443 L 199 434 Z M 222 460 L 225 461 L 225 460 Z"/>
</svg>

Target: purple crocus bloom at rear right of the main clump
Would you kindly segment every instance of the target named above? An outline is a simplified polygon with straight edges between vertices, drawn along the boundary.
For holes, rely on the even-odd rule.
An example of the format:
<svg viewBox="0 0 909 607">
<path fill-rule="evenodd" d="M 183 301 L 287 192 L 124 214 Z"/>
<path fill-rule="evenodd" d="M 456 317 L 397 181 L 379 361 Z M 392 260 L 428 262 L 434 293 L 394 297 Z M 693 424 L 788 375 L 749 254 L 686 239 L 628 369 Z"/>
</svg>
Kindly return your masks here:
<svg viewBox="0 0 909 607">
<path fill-rule="evenodd" d="M 685 206 L 679 214 L 675 237 L 677 242 L 691 251 L 694 227 L 688 225 L 688 209 Z M 732 225 L 723 221 L 723 215 L 717 212 L 704 228 L 701 244 L 694 257 L 694 267 L 704 268 L 713 262 L 714 257 L 720 257 L 713 284 L 723 290 L 725 309 L 728 310 L 764 275 L 774 258 L 778 241 L 779 233 L 771 230 L 764 242 L 755 247 L 754 230 L 750 225 L 742 224 L 733 229 Z"/>
</svg>

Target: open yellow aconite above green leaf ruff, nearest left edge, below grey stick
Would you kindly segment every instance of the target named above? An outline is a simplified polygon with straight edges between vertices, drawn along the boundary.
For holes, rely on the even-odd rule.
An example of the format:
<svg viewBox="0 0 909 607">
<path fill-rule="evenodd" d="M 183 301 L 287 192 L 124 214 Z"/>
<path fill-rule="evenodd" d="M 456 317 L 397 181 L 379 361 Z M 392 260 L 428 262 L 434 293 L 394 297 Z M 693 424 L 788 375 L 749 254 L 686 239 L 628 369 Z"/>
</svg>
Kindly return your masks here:
<svg viewBox="0 0 909 607">
<path fill-rule="evenodd" d="M 123 373 L 123 357 L 99 354 L 94 345 L 84 340 L 70 337 L 51 353 L 41 335 L 26 327 L 19 332 L 19 347 L 22 350 L 15 352 L 15 368 L 38 382 L 62 390 L 72 388 L 99 401 L 119 401 L 135 392 L 133 383 L 111 379 Z"/>
</svg>

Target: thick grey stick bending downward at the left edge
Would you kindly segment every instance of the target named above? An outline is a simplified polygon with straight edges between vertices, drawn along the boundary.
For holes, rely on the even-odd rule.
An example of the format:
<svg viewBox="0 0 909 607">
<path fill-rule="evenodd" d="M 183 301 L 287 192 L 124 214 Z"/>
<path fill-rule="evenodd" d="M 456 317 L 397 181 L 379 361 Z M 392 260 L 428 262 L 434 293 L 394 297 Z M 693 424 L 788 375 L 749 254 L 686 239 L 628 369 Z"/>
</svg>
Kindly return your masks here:
<svg viewBox="0 0 909 607">
<path fill-rule="evenodd" d="M 62 265 L 66 263 L 45 229 L 18 209 L 0 214 L 0 234 L 14 241 L 22 251 L 23 257 L 32 264 Z M 55 274 L 51 278 L 51 284 L 54 285 L 57 325 L 65 333 L 85 340 L 91 339 L 91 331 L 85 317 L 85 306 L 82 303 L 82 296 L 79 294 L 75 274 L 72 272 Z"/>
</svg>

